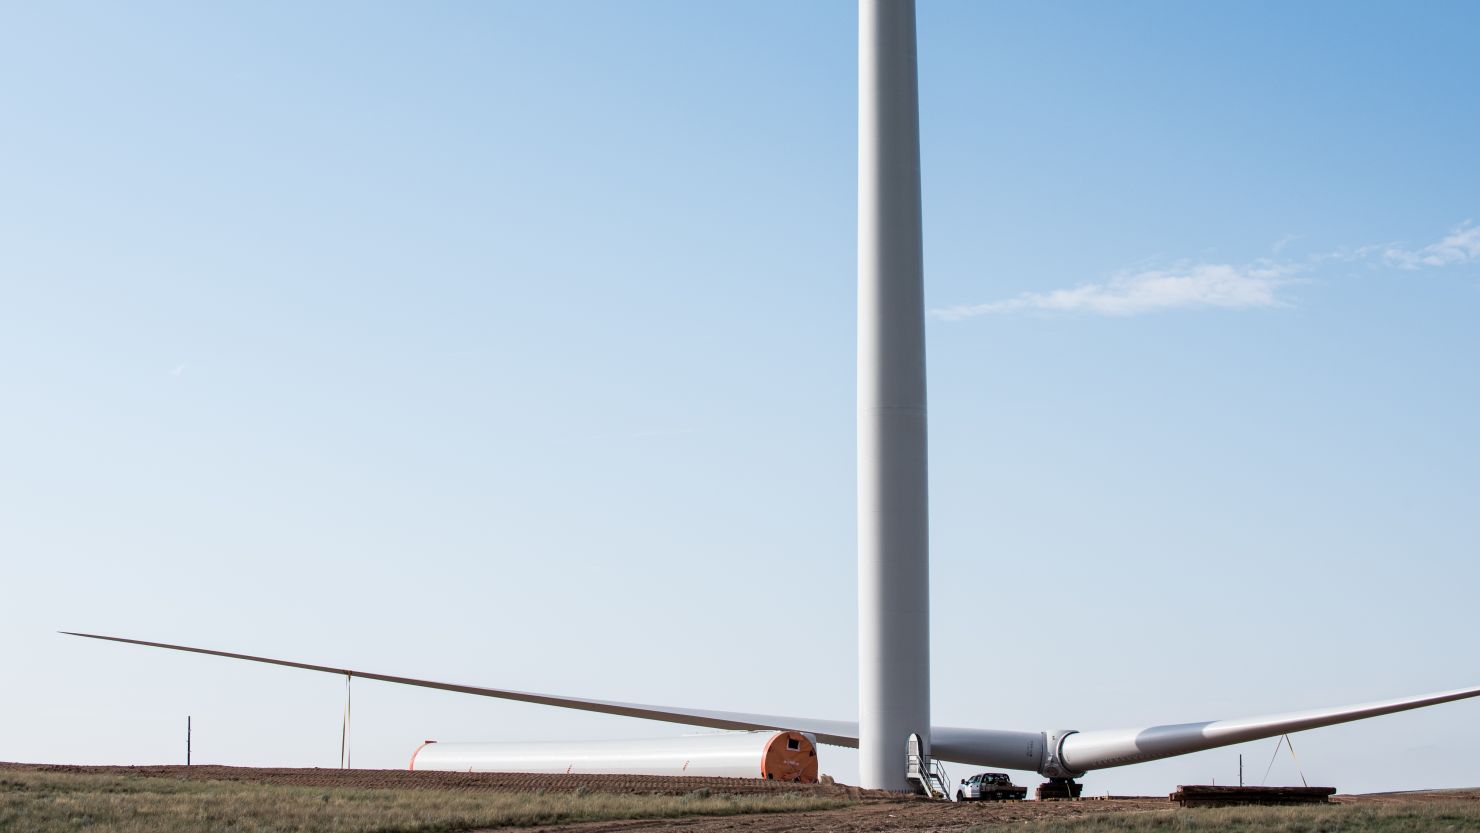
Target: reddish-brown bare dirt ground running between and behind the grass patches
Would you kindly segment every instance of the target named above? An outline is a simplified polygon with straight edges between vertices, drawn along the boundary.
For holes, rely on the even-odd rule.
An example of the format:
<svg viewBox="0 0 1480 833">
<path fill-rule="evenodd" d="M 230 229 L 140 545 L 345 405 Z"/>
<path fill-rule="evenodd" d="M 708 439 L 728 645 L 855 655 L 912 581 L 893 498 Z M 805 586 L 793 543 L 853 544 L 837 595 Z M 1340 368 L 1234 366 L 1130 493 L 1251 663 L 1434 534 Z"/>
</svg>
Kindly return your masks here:
<svg viewBox="0 0 1480 833">
<path fill-rule="evenodd" d="M 408 772 L 404 769 L 259 769 L 249 766 L 71 766 L 38 763 L 0 763 L 6 769 L 37 772 L 92 772 L 108 775 L 139 775 L 149 778 L 188 778 L 201 781 L 250 781 L 300 787 L 354 789 L 426 789 L 450 792 L 589 792 L 685 795 L 707 789 L 715 795 L 804 793 L 854 799 L 844 809 L 820 812 L 758 814 L 731 817 L 691 817 L 666 821 L 593 821 L 540 827 L 561 833 L 607 833 L 636 830 L 685 830 L 693 833 L 741 832 L 799 833 L 844 832 L 875 833 L 889 830 L 961 832 L 978 824 L 1012 824 L 1021 821 L 1109 815 L 1119 812 L 1171 812 L 1174 805 L 1163 796 L 1086 799 L 1079 802 L 969 802 L 952 803 L 894 793 L 860 790 L 850 786 L 790 784 L 750 778 L 672 778 L 657 775 L 530 775 L 502 772 Z M 1442 790 L 1431 793 L 1378 793 L 1366 796 L 1336 796 L 1342 803 L 1387 803 L 1403 800 L 1439 800 L 1480 803 L 1480 790 Z M 525 829 L 527 830 L 527 829 Z M 500 832 L 502 833 L 502 832 Z"/>
</svg>

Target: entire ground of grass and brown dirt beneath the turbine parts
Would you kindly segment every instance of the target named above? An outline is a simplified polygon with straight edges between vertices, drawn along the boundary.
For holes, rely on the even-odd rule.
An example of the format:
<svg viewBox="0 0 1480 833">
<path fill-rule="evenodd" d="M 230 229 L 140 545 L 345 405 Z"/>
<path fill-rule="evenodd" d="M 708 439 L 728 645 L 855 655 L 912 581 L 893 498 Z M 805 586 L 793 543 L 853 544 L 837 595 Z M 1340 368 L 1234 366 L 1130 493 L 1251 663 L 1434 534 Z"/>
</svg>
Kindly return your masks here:
<svg viewBox="0 0 1480 833">
<path fill-rule="evenodd" d="M 511 789 L 496 778 L 392 771 L 213 768 L 68 768 L 0 765 L 0 833 L 431 833 L 638 821 L 644 830 L 678 820 L 691 833 L 1480 833 L 1480 790 L 1359 796 L 1295 808 L 1180 809 L 1165 799 L 1122 802 L 900 800 L 857 790 L 747 792 L 682 780 L 645 786 L 551 775 L 549 792 Z M 305 786 L 318 783 L 327 786 Z M 272 783 L 272 780 L 278 780 Z M 653 795 L 667 789 L 670 795 Z M 679 787 L 679 789 L 675 789 Z M 722 789 L 722 787 L 721 787 Z M 650 792 L 651 790 L 651 792 Z M 838 812 L 808 814 L 835 809 Z M 752 815 L 746 820 L 693 818 Z"/>
</svg>

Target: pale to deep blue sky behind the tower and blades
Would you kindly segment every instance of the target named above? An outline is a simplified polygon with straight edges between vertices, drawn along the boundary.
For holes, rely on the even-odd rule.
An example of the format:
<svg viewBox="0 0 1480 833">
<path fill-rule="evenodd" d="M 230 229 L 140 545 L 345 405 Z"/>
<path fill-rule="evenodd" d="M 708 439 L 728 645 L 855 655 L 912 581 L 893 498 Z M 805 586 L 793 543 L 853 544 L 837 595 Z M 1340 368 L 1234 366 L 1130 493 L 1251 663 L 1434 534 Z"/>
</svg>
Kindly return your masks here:
<svg viewBox="0 0 1480 833">
<path fill-rule="evenodd" d="M 921 3 L 938 722 L 1480 682 L 1477 18 Z M 850 3 L 0 6 L 0 759 L 337 763 L 333 678 L 58 629 L 855 716 L 854 62 Z M 1476 709 L 1295 743 L 1474 786 Z"/>
</svg>

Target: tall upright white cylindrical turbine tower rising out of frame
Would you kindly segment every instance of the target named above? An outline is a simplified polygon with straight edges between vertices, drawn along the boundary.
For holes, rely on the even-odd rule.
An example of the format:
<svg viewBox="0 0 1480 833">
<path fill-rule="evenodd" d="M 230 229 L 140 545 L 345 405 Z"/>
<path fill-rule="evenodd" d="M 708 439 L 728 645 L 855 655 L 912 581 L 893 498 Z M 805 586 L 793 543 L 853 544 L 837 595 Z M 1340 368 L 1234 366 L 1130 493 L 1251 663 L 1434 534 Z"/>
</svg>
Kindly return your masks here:
<svg viewBox="0 0 1480 833">
<path fill-rule="evenodd" d="M 858 766 L 929 749 L 925 299 L 915 0 L 858 0 Z"/>
</svg>

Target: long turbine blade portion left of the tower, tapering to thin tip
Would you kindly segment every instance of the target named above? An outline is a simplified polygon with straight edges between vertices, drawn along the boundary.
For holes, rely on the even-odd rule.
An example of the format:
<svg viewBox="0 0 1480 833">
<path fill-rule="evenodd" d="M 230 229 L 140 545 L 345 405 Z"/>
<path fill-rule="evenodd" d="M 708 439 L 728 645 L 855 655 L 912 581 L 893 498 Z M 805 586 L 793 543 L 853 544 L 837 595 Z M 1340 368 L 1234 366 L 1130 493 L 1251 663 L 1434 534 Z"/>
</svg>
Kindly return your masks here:
<svg viewBox="0 0 1480 833">
<path fill-rule="evenodd" d="M 232 660 L 249 660 L 253 663 L 268 663 L 272 666 L 287 666 L 311 672 L 348 675 L 380 682 L 395 682 L 400 685 L 419 685 L 422 688 L 440 688 L 459 694 L 477 694 L 480 697 L 499 697 L 502 700 L 519 700 L 522 703 L 539 703 L 540 706 L 556 706 L 559 709 L 579 709 L 582 712 L 601 712 L 604 715 L 620 715 L 623 718 L 642 718 L 645 721 L 663 721 L 667 724 L 684 724 L 690 726 L 704 726 L 710 729 L 778 729 L 798 731 L 815 735 L 818 741 L 833 746 L 858 746 L 858 724 L 847 721 L 818 721 L 811 718 L 786 718 L 778 715 L 750 715 L 744 712 L 718 712 L 713 709 L 676 709 L 670 706 L 647 706 L 642 703 L 617 703 L 611 700 L 588 700 L 583 697 L 559 697 L 555 694 L 533 694 L 528 691 L 509 691 L 503 688 L 482 688 L 478 685 L 459 685 L 454 682 L 435 682 L 431 679 L 413 679 L 408 676 L 391 676 L 383 673 L 360 672 L 354 669 L 336 669 L 332 666 L 315 666 L 309 663 L 295 663 L 292 660 L 274 660 L 269 657 L 253 657 L 250 654 L 232 654 L 229 651 L 212 651 L 209 648 L 189 648 L 186 645 L 169 645 L 164 642 L 145 642 L 144 639 L 124 639 L 121 636 L 101 636 L 98 633 L 74 633 L 62 630 L 68 636 L 86 636 L 89 639 L 107 639 L 110 642 L 127 642 L 130 645 L 147 645 L 149 648 L 169 648 L 170 651 L 189 651 L 192 654 L 209 654 L 212 657 L 228 657 Z"/>
</svg>

